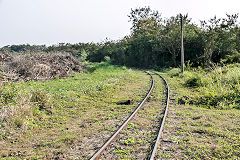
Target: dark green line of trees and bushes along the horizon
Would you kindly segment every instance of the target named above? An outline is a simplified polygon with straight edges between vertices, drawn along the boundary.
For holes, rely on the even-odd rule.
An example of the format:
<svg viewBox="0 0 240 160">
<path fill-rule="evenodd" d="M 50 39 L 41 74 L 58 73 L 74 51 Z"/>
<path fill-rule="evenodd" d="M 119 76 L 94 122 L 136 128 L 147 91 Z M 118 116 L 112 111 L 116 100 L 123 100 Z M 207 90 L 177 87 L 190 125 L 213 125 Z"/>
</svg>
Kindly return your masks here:
<svg viewBox="0 0 240 160">
<path fill-rule="evenodd" d="M 66 51 L 81 60 L 107 60 L 112 64 L 138 68 L 158 69 L 180 65 L 180 14 L 163 18 L 158 11 L 143 7 L 132 9 L 129 20 L 132 23 L 131 34 L 117 41 L 60 43 L 49 47 L 13 45 L 5 46 L 0 51 Z M 184 48 L 185 60 L 192 66 L 240 62 L 238 14 L 226 14 L 224 18 L 215 16 L 199 24 L 186 17 Z"/>
</svg>

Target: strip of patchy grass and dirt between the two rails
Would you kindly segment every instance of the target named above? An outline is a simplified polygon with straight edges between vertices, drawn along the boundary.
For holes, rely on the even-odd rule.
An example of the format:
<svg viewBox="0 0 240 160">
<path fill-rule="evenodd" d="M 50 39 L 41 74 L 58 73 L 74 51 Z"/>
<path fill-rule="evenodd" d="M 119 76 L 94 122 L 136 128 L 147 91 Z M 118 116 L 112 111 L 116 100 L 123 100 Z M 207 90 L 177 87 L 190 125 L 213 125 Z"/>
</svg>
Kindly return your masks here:
<svg viewBox="0 0 240 160">
<path fill-rule="evenodd" d="M 164 109 L 162 81 L 155 78 L 155 89 L 148 101 L 121 131 L 100 159 L 147 159 L 152 151 Z"/>
</svg>

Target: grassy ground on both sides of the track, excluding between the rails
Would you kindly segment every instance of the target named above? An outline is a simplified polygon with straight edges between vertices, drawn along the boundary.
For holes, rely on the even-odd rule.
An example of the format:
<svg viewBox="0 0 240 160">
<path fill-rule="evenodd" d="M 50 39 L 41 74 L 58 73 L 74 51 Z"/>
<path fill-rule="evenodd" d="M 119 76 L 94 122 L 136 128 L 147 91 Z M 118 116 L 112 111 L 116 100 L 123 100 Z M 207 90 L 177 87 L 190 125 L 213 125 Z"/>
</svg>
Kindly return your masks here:
<svg viewBox="0 0 240 160">
<path fill-rule="evenodd" d="M 149 87 L 143 72 L 106 65 L 95 69 L 65 79 L 1 86 L 0 156 L 89 158 Z M 239 65 L 161 74 L 171 87 L 172 104 L 159 156 L 239 159 Z M 129 97 L 133 105 L 116 105 Z"/>
</svg>

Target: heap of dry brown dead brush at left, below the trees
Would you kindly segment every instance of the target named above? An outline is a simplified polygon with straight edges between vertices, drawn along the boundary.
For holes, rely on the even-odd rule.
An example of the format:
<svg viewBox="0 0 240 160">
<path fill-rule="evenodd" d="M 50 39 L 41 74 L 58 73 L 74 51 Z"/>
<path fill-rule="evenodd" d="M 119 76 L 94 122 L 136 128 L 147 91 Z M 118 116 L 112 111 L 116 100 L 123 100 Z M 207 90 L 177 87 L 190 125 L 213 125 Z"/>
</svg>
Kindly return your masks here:
<svg viewBox="0 0 240 160">
<path fill-rule="evenodd" d="M 0 81 L 49 80 L 67 77 L 84 69 L 80 61 L 66 52 L 10 55 L 0 54 Z"/>
</svg>

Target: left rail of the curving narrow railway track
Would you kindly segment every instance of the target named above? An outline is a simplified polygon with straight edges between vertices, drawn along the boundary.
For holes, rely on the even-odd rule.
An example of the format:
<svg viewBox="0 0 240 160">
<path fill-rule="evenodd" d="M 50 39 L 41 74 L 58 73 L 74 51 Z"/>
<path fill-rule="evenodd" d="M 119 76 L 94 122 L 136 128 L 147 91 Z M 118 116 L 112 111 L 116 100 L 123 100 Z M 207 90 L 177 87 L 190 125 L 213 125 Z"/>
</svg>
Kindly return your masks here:
<svg viewBox="0 0 240 160">
<path fill-rule="evenodd" d="M 145 98 L 142 100 L 142 102 L 138 105 L 138 107 L 134 110 L 134 112 L 128 117 L 128 119 L 121 125 L 121 127 L 112 135 L 112 137 L 110 137 L 108 139 L 108 141 L 98 150 L 98 152 L 96 152 L 92 158 L 90 160 L 97 160 L 100 155 L 102 154 L 102 152 L 107 148 L 107 146 L 117 137 L 117 135 L 119 134 L 119 132 L 128 124 L 128 122 L 134 117 L 134 115 L 138 112 L 138 110 L 142 107 L 142 105 L 145 103 L 145 101 L 147 100 L 147 98 L 149 97 L 150 93 L 152 92 L 153 88 L 154 88 L 154 80 L 153 77 L 150 73 L 146 72 L 150 77 L 151 77 L 151 87 L 148 90 L 147 95 L 145 96 Z"/>
</svg>

